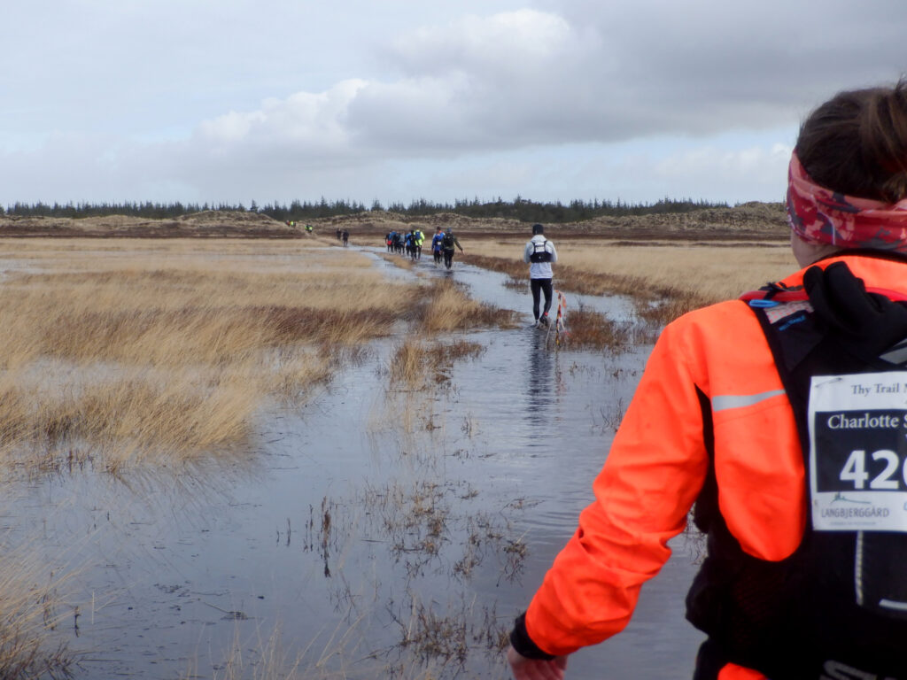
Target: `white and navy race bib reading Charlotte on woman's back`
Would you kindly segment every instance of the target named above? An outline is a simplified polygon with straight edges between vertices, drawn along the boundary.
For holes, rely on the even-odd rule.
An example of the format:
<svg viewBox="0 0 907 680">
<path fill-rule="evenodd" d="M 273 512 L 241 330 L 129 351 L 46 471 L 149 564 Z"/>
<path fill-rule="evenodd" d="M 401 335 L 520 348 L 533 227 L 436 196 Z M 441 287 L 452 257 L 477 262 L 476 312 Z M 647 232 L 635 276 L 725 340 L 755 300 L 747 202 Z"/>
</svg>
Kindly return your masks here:
<svg viewBox="0 0 907 680">
<path fill-rule="evenodd" d="M 907 371 L 814 376 L 813 529 L 907 532 Z"/>
</svg>

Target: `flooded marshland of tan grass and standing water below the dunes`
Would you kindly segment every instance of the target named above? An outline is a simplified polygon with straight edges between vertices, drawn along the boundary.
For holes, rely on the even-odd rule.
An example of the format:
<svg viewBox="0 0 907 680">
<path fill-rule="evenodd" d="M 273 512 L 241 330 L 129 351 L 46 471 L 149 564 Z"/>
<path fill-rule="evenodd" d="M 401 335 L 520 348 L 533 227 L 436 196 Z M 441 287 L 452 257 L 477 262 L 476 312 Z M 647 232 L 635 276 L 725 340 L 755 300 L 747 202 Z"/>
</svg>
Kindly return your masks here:
<svg viewBox="0 0 907 680">
<path fill-rule="evenodd" d="M 663 310 L 743 268 L 557 241 L 561 288 L 638 316 L 571 299 L 552 351 L 514 331 L 523 243 L 464 243 L 522 288 L 491 306 L 328 239 L 0 242 L 0 474 L 36 509 L 6 513 L 0 675 L 496 676 Z M 784 267 L 754 250 L 739 290 Z"/>
</svg>

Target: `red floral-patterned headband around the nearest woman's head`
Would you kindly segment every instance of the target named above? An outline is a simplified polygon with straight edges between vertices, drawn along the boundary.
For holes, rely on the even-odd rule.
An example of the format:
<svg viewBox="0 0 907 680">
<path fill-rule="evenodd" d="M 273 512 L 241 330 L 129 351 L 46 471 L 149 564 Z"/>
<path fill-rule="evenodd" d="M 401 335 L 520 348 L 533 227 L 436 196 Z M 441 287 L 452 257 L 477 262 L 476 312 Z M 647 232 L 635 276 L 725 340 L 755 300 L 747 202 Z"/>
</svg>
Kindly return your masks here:
<svg viewBox="0 0 907 680">
<path fill-rule="evenodd" d="M 787 174 L 787 223 L 807 243 L 907 253 L 907 199 L 884 203 L 820 187 L 796 151 Z"/>
</svg>

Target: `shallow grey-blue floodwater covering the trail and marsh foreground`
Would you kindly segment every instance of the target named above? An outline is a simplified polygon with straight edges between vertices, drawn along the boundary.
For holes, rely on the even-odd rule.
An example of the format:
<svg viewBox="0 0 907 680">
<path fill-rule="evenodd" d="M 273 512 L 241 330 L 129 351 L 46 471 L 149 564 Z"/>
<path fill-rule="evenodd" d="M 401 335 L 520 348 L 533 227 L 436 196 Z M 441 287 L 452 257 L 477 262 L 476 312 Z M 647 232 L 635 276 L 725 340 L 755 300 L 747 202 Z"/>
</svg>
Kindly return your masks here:
<svg viewBox="0 0 907 680">
<path fill-rule="evenodd" d="M 531 320 L 530 296 L 503 275 L 375 263 L 452 276 Z M 487 638 L 509 630 L 570 537 L 649 347 L 551 352 L 528 328 L 466 337 L 483 354 L 434 393 L 391 389 L 402 338 L 376 343 L 305 406 L 262 413 L 246 462 L 7 481 L 11 537 L 81 567 L 78 616 L 60 626 L 82 655 L 76 675 L 223 677 L 231 646 L 251 675 L 278 631 L 307 677 L 507 676 Z M 628 629 L 575 655 L 569 677 L 689 675 L 695 566 L 675 548 Z"/>
</svg>

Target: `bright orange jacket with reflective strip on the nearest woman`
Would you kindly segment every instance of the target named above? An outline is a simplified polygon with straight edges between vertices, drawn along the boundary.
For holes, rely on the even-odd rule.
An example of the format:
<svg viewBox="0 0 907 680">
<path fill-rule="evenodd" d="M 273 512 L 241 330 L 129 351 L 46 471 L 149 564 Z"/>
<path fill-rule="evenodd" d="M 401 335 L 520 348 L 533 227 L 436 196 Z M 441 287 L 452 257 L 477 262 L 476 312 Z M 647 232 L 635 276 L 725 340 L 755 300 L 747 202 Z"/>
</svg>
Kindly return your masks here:
<svg viewBox="0 0 907 680">
<path fill-rule="evenodd" d="M 859 255 L 844 261 L 867 287 L 907 292 L 907 263 Z M 805 270 L 785 278 L 802 285 Z M 732 300 L 669 324 L 580 513 L 526 612 L 541 650 L 565 655 L 618 633 L 639 588 L 668 560 L 668 539 L 686 526 L 708 457 L 697 389 L 711 403 L 718 505 L 750 555 L 789 557 L 805 528 L 803 454 L 794 413 L 754 312 Z M 720 680 L 764 675 L 726 666 Z"/>
</svg>

